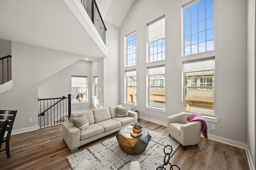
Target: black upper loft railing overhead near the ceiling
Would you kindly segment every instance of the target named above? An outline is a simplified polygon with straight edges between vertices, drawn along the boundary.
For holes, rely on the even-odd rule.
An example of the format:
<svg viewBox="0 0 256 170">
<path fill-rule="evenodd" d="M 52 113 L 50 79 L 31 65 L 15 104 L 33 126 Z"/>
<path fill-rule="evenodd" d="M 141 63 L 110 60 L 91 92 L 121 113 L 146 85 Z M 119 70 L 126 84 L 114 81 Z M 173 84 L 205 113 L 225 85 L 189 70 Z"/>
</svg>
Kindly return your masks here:
<svg viewBox="0 0 256 170">
<path fill-rule="evenodd" d="M 92 23 L 94 24 L 95 28 L 97 29 L 98 33 L 100 34 L 100 37 L 106 44 L 106 25 L 102 19 L 102 16 L 100 15 L 100 10 L 97 6 L 97 3 L 95 0 L 81 0 L 82 5 L 84 6 L 84 9 L 86 10 L 87 14 L 92 20 Z"/>
</svg>

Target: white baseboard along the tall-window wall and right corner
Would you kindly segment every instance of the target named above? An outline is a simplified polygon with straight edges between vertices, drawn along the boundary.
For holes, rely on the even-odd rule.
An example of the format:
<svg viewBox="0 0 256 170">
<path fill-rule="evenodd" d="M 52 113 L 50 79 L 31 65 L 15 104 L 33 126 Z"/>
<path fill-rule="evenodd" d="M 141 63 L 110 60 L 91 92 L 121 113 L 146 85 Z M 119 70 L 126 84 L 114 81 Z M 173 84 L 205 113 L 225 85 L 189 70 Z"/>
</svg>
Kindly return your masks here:
<svg viewBox="0 0 256 170">
<path fill-rule="evenodd" d="M 144 116 L 140 116 L 140 118 L 143 119 L 143 120 L 146 120 L 146 121 L 151 121 L 151 122 L 154 122 L 154 123 L 158 123 L 158 124 L 163 125 L 163 126 L 167 125 L 166 122 L 164 122 L 164 121 L 159 121 L 159 120 L 151 119 L 151 118 L 144 117 Z M 202 136 L 202 133 L 201 133 L 201 136 Z M 204 136 L 202 136 L 202 137 L 204 137 Z M 254 164 L 253 164 L 253 161 L 252 161 L 252 156 L 250 154 L 250 150 L 249 150 L 248 145 L 246 143 L 234 141 L 234 140 L 231 140 L 231 139 L 226 139 L 224 137 L 218 137 L 216 135 L 211 135 L 211 134 L 208 134 L 208 139 L 212 139 L 214 141 L 218 141 L 218 142 L 221 142 L 221 143 L 225 143 L 225 144 L 228 144 L 228 145 L 232 145 L 234 147 L 244 149 L 246 151 L 246 157 L 247 157 L 247 160 L 248 160 L 250 170 L 255 170 L 255 167 L 254 167 Z"/>
</svg>

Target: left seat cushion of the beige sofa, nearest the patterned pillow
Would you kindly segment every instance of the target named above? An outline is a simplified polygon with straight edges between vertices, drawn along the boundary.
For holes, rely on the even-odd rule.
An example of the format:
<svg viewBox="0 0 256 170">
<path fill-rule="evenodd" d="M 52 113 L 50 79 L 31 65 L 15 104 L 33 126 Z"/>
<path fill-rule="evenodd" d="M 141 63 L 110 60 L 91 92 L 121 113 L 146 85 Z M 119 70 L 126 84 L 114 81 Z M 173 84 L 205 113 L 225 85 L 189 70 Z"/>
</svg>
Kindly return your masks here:
<svg viewBox="0 0 256 170">
<path fill-rule="evenodd" d="M 83 132 L 80 133 L 80 141 L 88 139 L 103 132 L 104 128 L 102 126 L 97 125 L 95 123 L 91 124 L 88 126 L 88 128 L 86 128 Z"/>
</svg>

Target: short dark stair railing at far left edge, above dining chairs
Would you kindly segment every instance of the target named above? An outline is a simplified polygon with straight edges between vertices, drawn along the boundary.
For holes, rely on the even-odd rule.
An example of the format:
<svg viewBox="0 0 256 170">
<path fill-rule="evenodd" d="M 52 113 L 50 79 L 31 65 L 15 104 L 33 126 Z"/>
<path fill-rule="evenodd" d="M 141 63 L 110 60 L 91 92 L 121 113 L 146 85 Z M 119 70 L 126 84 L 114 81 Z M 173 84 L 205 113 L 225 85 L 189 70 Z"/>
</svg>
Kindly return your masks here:
<svg viewBox="0 0 256 170">
<path fill-rule="evenodd" d="M 0 58 L 0 84 L 12 80 L 12 56 Z"/>
</svg>

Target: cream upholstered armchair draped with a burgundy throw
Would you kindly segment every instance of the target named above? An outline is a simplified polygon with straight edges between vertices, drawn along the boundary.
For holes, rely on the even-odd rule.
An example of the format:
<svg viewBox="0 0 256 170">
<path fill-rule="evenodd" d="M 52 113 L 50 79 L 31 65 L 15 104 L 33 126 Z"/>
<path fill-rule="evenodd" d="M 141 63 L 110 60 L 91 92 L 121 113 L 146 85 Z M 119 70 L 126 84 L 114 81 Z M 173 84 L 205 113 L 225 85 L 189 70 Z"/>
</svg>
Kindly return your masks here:
<svg viewBox="0 0 256 170">
<path fill-rule="evenodd" d="M 198 145 L 201 135 L 201 122 L 193 121 L 187 123 L 187 117 L 191 113 L 178 113 L 167 117 L 167 132 L 169 137 L 172 136 L 176 139 L 183 149 L 186 150 L 186 146 Z"/>
</svg>

